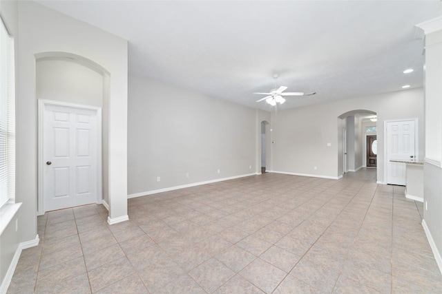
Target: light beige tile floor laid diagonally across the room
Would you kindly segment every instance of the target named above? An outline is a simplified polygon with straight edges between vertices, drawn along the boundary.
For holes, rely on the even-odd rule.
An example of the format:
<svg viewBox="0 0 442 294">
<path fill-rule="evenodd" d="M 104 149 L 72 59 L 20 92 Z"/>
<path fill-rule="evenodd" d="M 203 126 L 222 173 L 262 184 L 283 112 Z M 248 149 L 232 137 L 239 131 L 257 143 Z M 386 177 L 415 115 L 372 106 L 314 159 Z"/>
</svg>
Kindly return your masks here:
<svg viewBox="0 0 442 294">
<path fill-rule="evenodd" d="M 442 293 L 404 187 L 262 174 L 38 218 L 8 293 Z"/>
</svg>

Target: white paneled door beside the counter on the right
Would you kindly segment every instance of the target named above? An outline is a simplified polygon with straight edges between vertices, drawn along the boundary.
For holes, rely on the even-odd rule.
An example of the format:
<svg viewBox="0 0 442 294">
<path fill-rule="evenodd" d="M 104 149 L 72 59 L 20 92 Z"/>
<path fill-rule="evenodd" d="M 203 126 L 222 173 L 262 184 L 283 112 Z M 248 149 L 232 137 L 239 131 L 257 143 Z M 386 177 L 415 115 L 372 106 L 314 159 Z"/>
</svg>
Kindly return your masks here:
<svg viewBox="0 0 442 294">
<path fill-rule="evenodd" d="M 387 184 L 405 186 L 405 163 L 390 160 L 416 157 L 414 123 L 414 120 L 387 122 Z"/>
</svg>

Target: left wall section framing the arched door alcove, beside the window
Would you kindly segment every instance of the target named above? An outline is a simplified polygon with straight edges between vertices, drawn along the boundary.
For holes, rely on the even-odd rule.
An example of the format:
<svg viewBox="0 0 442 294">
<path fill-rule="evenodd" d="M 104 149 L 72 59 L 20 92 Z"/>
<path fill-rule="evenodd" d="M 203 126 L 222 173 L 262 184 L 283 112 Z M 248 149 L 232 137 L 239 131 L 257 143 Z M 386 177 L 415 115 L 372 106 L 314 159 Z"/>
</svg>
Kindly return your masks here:
<svg viewBox="0 0 442 294">
<path fill-rule="evenodd" d="M 36 59 L 47 52 L 81 56 L 106 69 L 108 89 L 109 193 L 111 218 L 127 214 L 127 41 L 92 25 L 34 2 L 19 1 L 19 65 L 17 67 L 17 201 L 20 240 L 35 240 L 37 234 L 37 76 Z M 124 175 L 124 176 L 122 176 Z M 110 199 L 109 202 L 112 202 Z M 112 207 L 116 209 L 112 211 Z"/>
</svg>

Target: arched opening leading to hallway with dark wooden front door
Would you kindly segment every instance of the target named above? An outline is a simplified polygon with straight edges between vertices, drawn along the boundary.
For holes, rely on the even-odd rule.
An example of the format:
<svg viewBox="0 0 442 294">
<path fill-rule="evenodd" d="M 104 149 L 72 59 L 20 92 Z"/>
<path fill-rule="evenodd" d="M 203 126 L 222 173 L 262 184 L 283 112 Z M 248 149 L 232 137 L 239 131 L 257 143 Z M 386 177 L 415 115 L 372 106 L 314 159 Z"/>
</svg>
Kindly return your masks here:
<svg viewBox="0 0 442 294">
<path fill-rule="evenodd" d="M 377 114 L 355 109 L 338 116 L 338 174 L 377 166 Z"/>
</svg>

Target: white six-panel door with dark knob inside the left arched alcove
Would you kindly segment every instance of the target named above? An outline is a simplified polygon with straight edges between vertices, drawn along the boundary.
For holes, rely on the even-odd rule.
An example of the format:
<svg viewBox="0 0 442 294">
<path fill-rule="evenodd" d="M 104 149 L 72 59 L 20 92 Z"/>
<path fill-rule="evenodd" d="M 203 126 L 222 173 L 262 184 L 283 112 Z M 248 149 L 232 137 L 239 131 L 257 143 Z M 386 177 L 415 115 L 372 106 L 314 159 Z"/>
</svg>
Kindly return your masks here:
<svg viewBox="0 0 442 294">
<path fill-rule="evenodd" d="M 97 202 L 97 110 L 46 105 L 43 115 L 44 210 Z"/>
</svg>

